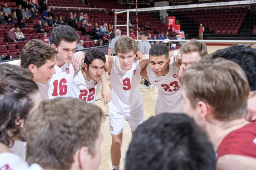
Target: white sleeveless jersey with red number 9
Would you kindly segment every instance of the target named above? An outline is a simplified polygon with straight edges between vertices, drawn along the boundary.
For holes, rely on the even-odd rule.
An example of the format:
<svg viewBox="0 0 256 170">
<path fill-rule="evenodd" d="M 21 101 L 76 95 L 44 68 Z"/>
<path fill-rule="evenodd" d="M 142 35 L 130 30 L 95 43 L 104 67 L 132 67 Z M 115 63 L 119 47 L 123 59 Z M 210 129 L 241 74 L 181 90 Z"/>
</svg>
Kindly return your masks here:
<svg viewBox="0 0 256 170">
<path fill-rule="evenodd" d="M 130 113 L 140 108 L 143 104 L 140 92 L 140 63 L 134 60 L 132 68 L 124 71 L 120 68 L 119 59 L 113 57 L 111 75 L 109 76 L 112 85 L 112 100 L 109 107 L 120 114 Z"/>
</svg>

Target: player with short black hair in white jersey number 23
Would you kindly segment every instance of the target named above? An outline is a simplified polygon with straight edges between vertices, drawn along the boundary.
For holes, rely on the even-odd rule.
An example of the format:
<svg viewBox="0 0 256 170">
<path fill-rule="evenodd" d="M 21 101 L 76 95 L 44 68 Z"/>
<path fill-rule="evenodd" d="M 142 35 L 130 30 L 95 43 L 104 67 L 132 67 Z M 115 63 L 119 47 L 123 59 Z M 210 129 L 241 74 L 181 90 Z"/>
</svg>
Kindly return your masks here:
<svg viewBox="0 0 256 170">
<path fill-rule="evenodd" d="M 142 77 L 158 88 L 156 114 L 183 112 L 182 91 L 176 78 L 179 67 L 175 60 L 169 57 L 166 45 L 157 44 L 149 50 L 150 64 L 141 71 Z"/>
</svg>

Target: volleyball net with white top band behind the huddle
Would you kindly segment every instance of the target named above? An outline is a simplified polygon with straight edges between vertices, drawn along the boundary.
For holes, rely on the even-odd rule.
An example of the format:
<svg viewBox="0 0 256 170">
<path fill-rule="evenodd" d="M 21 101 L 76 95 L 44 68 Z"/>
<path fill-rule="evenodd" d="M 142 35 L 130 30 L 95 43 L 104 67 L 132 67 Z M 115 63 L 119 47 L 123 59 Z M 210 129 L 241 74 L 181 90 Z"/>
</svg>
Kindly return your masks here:
<svg viewBox="0 0 256 170">
<path fill-rule="evenodd" d="M 133 29 L 137 35 L 138 24 L 138 32 L 156 36 L 148 40 L 151 42 L 182 43 L 202 36 L 206 43 L 256 44 L 256 0 L 205 2 L 199 0 L 198 4 L 115 11 L 115 29 L 127 35 Z M 126 24 L 120 25 L 121 19 L 126 20 Z M 129 23 L 134 27 L 129 27 Z M 166 31 L 168 36 L 157 40 L 158 35 L 161 32 L 166 35 Z"/>
</svg>

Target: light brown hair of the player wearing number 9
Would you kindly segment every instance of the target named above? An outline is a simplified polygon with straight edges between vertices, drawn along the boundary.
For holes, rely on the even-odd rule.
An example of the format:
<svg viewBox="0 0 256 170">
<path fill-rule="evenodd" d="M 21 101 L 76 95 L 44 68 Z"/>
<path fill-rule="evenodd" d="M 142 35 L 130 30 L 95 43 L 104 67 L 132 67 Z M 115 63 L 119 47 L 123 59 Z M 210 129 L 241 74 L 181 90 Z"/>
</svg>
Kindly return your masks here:
<svg viewBox="0 0 256 170">
<path fill-rule="evenodd" d="M 116 51 L 116 54 L 118 53 L 127 54 L 130 52 L 133 52 L 134 54 L 136 54 L 138 51 L 138 45 L 133 38 L 123 35 L 116 41 L 115 51 Z"/>
</svg>

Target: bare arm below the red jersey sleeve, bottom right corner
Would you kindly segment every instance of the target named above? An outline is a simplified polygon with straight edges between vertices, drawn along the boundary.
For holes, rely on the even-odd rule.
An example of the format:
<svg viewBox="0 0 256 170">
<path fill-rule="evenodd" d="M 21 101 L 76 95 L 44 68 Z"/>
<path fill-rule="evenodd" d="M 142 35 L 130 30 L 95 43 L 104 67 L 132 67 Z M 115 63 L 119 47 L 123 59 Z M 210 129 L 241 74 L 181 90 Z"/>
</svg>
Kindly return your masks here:
<svg viewBox="0 0 256 170">
<path fill-rule="evenodd" d="M 218 159 L 216 170 L 256 170 L 256 159 L 241 155 L 224 155 Z"/>
</svg>

